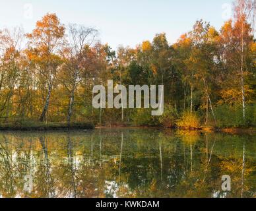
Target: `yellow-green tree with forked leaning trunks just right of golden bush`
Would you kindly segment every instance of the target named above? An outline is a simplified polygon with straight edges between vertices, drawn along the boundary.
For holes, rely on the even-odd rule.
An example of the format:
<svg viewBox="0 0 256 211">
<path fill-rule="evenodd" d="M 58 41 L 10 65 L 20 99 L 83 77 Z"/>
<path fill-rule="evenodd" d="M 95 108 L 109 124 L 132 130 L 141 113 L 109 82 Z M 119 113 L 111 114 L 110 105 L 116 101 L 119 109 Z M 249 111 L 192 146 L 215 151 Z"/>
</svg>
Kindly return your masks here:
<svg viewBox="0 0 256 211">
<path fill-rule="evenodd" d="M 208 121 L 208 102 L 210 103 L 214 121 L 216 121 L 212 100 L 210 99 L 210 84 L 214 83 L 214 66 L 218 63 L 216 57 L 216 38 L 218 37 L 218 32 L 213 27 L 210 27 L 208 22 L 200 20 L 196 22 L 190 35 L 193 48 L 187 65 L 189 65 L 189 69 L 191 69 L 193 76 L 197 80 L 197 88 L 203 89 L 203 92 L 205 92 L 205 98 L 203 99 L 207 100 L 206 122 Z"/>
</svg>

